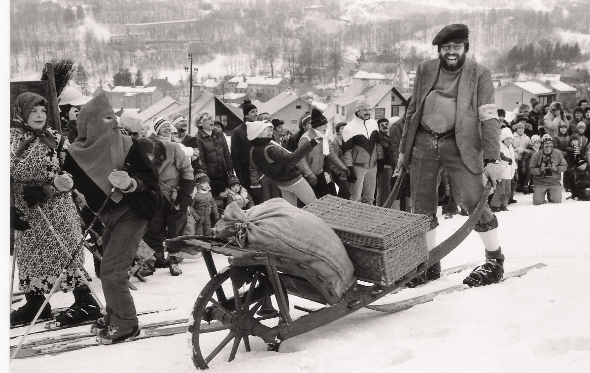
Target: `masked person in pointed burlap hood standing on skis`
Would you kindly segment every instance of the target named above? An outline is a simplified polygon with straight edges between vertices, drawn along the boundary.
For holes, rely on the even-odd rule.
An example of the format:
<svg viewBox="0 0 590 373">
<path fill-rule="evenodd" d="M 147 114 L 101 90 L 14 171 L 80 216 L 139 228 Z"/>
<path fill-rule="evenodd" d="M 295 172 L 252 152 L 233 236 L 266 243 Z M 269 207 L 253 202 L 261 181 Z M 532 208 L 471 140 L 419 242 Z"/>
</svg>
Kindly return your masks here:
<svg viewBox="0 0 590 373">
<path fill-rule="evenodd" d="M 137 140 L 123 136 L 104 93 L 78 114 L 78 138 L 68 149 L 64 171 L 104 224 L 100 263 L 106 316 L 91 327 L 100 343 L 139 335 L 127 271 L 148 220 L 162 201 L 158 174 Z"/>
</svg>

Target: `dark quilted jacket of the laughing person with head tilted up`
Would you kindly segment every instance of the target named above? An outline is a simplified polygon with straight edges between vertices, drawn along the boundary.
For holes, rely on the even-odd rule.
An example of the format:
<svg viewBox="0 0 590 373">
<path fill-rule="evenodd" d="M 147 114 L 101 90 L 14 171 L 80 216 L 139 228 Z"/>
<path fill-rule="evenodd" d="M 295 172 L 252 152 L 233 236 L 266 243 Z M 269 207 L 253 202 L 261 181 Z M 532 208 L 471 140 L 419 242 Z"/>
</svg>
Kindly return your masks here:
<svg viewBox="0 0 590 373">
<path fill-rule="evenodd" d="M 234 168 L 230 156 L 230 149 L 223 133 L 214 130 L 211 135 L 199 128 L 195 136 L 196 146 L 199 148 L 201 169 L 209 178 L 226 176 L 228 171 Z M 247 163 L 248 154 L 246 153 Z M 248 169 L 248 168 L 246 168 Z"/>
</svg>

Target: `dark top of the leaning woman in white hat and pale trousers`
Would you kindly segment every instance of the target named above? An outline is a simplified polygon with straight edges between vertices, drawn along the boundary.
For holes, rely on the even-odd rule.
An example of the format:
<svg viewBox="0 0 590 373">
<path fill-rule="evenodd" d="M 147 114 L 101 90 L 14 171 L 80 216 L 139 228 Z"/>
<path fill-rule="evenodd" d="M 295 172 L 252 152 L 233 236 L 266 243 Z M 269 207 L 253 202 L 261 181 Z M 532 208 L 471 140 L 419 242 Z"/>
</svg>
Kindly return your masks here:
<svg viewBox="0 0 590 373">
<path fill-rule="evenodd" d="M 260 172 L 274 180 L 279 186 L 293 185 L 301 179 L 301 172 L 296 165 L 317 145 L 317 140 L 303 143 L 293 153 L 270 139 L 252 140 L 252 161 Z"/>
</svg>

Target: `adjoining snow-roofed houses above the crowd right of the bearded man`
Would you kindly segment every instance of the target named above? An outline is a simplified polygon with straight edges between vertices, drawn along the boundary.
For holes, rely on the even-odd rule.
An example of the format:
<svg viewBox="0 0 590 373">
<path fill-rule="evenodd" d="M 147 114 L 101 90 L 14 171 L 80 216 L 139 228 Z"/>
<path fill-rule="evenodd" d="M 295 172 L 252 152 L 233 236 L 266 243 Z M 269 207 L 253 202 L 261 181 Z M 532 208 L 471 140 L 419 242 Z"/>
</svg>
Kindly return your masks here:
<svg viewBox="0 0 590 373">
<path fill-rule="evenodd" d="M 528 104 L 533 97 L 539 100 L 541 105 L 559 101 L 567 106 L 566 103 L 575 100 L 576 91 L 559 80 L 547 80 L 545 84 L 540 81 L 515 81 L 497 88 L 494 91 L 494 99 L 498 109 L 512 112 L 517 103 Z"/>
</svg>

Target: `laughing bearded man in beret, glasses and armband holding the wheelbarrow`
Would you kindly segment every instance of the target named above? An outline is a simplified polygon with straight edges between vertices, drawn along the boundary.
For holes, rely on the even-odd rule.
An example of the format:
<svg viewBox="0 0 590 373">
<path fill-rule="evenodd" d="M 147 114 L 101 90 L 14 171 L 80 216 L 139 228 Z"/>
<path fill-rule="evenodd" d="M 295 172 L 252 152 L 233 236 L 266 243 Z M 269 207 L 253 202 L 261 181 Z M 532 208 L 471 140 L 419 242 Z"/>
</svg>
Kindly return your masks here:
<svg viewBox="0 0 590 373">
<path fill-rule="evenodd" d="M 473 214 L 484 192 L 483 178 L 493 185 L 501 180 L 500 121 L 494 104 L 490 70 L 466 58 L 469 29 L 453 24 L 443 28 L 432 45 L 438 59 L 424 61 L 416 71 L 399 144 L 396 171 L 412 172 L 412 212 L 428 215 L 432 230 L 426 235 L 428 249 L 436 245 L 436 218 L 441 170 L 448 172 L 453 194 L 461 207 Z M 486 248 L 486 263 L 464 280 L 470 286 L 499 282 L 504 256 L 497 233 L 498 221 L 486 205 L 474 230 Z M 440 262 L 412 284 L 440 277 Z"/>
</svg>

